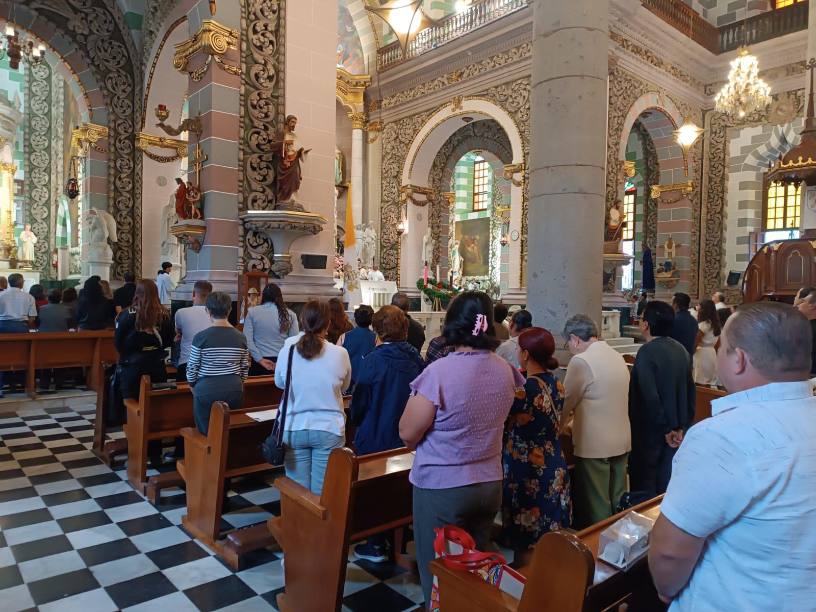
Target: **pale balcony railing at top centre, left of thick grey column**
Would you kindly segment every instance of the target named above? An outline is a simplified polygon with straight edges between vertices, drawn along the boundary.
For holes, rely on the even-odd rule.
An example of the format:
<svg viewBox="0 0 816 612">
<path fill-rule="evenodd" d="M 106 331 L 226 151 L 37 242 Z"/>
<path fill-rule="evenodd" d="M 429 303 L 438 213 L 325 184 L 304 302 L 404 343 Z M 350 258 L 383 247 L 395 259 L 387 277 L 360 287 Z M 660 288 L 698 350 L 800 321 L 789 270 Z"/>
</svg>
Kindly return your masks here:
<svg viewBox="0 0 816 612">
<path fill-rule="evenodd" d="M 402 56 L 399 42 L 392 42 L 377 52 L 377 67 L 380 71 L 392 68 L 405 60 L 439 47 L 441 44 L 463 34 L 481 28 L 482 25 L 509 15 L 528 6 L 527 0 L 477 0 L 467 9 L 441 20 L 439 25 L 428 28 L 408 45 L 406 57 Z"/>
</svg>

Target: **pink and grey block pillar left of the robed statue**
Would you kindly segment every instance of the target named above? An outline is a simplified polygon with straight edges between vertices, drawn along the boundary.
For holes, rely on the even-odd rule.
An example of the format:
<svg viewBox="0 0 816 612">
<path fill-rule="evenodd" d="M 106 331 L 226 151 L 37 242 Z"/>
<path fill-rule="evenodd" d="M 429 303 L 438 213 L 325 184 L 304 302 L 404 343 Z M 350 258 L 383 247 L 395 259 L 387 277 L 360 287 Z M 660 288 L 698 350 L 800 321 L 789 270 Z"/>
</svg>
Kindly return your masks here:
<svg viewBox="0 0 816 612">
<path fill-rule="evenodd" d="M 214 19 L 225 27 L 241 31 L 239 2 L 220 2 L 215 16 L 211 15 L 207 0 L 185 0 L 185 5 L 191 36 L 202 27 L 205 19 Z M 236 49 L 228 50 L 220 55 L 220 59 L 233 66 L 240 63 Z M 206 55 L 198 54 L 189 60 L 188 69 L 198 69 L 205 61 Z M 180 78 L 183 77 L 180 75 Z M 200 81 L 189 79 L 189 117 L 193 118 L 198 113 L 202 115 L 203 131 L 199 144 L 207 159 L 198 175 L 192 162 L 196 135 L 188 133 L 190 171 L 184 180 L 191 180 L 202 190 L 206 235 L 197 253 L 187 247 L 187 273 L 173 293 L 173 299 L 191 299 L 193 285 L 199 280 L 209 281 L 214 290 L 237 298 L 240 88 L 241 77 L 220 69 L 215 62 L 210 64 Z M 145 112 L 153 113 L 153 109 L 146 109 Z"/>
</svg>

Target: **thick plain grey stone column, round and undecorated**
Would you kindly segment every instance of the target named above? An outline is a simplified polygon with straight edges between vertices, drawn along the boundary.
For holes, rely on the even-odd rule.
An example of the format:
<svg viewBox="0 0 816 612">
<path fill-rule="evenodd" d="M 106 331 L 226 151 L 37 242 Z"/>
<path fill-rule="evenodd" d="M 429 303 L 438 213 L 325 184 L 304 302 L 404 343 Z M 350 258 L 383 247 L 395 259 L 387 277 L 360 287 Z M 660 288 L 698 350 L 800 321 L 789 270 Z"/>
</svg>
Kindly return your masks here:
<svg viewBox="0 0 816 612">
<path fill-rule="evenodd" d="M 533 8 L 527 308 L 556 335 L 601 324 L 608 20 L 609 0 Z"/>
</svg>

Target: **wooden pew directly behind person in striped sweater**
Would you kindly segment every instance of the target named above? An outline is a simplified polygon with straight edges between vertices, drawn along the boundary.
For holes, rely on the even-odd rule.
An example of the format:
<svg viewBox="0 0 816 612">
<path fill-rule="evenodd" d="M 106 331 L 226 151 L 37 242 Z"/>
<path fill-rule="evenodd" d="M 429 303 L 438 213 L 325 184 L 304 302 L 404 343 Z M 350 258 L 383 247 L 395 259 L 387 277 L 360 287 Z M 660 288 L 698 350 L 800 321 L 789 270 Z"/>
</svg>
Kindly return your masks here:
<svg viewBox="0 0 816 612">
<path fill-rule="evenodd" d="M 264 462 L 260 450 L 272 433 L 274 421 L 258 423 L 247 415 L 272 407 L 230 411 L 226 403 L 216 401 L 206 437 L 195 428 L 181 430 L 184 459 L 179 461 L 178 468 L 187 483 L 187 514 L 181 517 L 181 524 L 236 570 L 242 569 L 244 553 L 275 543 L 264 523 L 220 539 L 224 481 L 274 469 Z"/>
</svg>

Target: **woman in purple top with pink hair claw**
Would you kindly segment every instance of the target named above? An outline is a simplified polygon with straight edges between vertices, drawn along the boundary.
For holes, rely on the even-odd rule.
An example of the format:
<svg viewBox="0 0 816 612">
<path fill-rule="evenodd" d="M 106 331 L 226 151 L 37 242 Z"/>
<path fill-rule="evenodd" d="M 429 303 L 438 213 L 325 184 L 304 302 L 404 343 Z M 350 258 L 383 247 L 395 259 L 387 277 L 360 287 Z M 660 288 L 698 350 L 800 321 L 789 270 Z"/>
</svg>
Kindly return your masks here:
<svg viewBox="0 0 816 612">
<path fill-rule="evenodd" d="M 410 384 L 399 432 L 416 449 L 414 539 L 419 579 L 431 603 L 434 529 L 462 527 L 485 550 L 502 505 L 502 432 L 524 378 L 493 353 L 493 300 L 465 291 L 448 306 L 442 335 L 453 348 Z M 488 334 L 490 330 L 490 334 Z"/>
</svg>

